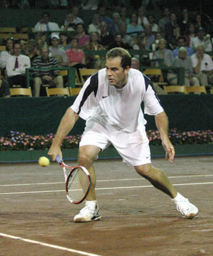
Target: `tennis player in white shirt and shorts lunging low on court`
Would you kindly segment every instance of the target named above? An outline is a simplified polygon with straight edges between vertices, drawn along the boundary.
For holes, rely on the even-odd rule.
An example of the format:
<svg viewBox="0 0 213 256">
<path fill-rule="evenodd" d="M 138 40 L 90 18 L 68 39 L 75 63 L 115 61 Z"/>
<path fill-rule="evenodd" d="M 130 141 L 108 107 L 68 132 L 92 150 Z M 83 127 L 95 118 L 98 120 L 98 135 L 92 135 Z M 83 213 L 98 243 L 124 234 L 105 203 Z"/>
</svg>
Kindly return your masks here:
<svg viewBox="0 0 213 256">
<path fill-rule="evenodd" d="M 91 174 L 91 189 L 85 207 L 74 217 L 75 222 L 87 222 L 101 218 L 96 200 L 96 175 L 92 166 L 99 152 L 114 145 L 124 163 L 134 166 L 136 172 L 166 193 L 186 218 L 198 213 L 195 205 L 177 193 L 166 174 L 151 164 L 149 140 L 145 132 L 147 123 L 144 112 L 154 115 L 161 136 L 166 159 L 173 163 L 175 150 L 168 138 L 168 118 L 163 110 L 151 80 L 142 72 L 130 68 L 131 56 L 122 48 L 107 52 L 106 67 L 93 74 L 85 82 L 73 105 L 62 117 L 48 155 L 55 160 L 62 157 L 61 143 L 78 116 L 86 121 L 85 131 L 78 150 L 78 164 Z"/>
</svg>

